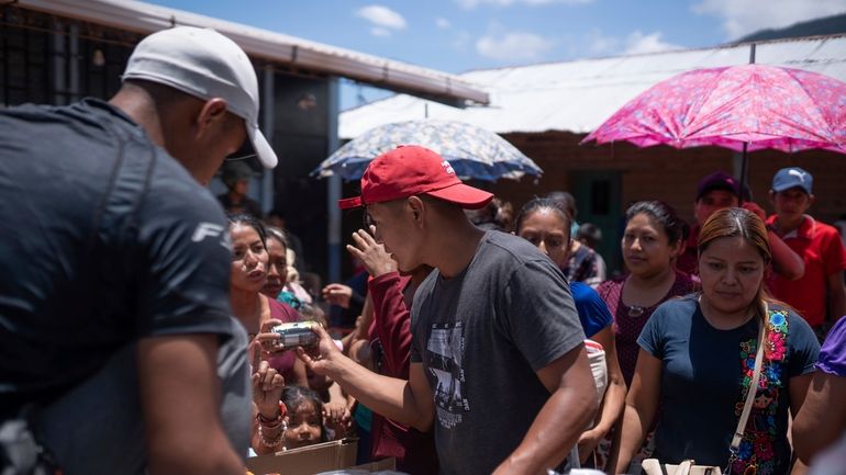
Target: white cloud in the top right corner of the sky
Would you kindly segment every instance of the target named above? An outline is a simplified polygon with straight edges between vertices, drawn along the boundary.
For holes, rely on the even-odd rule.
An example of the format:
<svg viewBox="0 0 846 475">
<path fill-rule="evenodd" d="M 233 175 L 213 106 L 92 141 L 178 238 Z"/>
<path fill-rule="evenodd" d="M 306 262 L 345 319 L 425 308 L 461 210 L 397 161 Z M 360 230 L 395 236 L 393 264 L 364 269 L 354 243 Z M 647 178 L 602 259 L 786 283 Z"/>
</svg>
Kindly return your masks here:
<svg viewBox="0 0 846 475">
<path fill-rule="evenodd" d="M 846 0 L 700 0 L 699 14 L 719 16 L 728 39 L 846 12 Z"/>
</svg>

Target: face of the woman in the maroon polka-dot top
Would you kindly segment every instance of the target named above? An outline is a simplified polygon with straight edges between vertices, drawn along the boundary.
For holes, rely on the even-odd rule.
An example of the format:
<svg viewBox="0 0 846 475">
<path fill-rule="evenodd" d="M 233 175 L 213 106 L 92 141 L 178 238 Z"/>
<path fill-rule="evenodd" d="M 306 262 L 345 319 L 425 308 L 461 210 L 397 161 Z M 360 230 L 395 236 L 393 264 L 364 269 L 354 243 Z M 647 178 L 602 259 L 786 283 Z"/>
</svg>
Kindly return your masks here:
<svg viewBox="0 0 846 475">
<path fill-rule="evenodd" d="M 623 233 L 623 260 L 632 274 L 649 278 L 671 265 L 680 245 L 670 245 L 664 227 L 648 214 L 638 213 L 628 219 Z"/>
</svg>

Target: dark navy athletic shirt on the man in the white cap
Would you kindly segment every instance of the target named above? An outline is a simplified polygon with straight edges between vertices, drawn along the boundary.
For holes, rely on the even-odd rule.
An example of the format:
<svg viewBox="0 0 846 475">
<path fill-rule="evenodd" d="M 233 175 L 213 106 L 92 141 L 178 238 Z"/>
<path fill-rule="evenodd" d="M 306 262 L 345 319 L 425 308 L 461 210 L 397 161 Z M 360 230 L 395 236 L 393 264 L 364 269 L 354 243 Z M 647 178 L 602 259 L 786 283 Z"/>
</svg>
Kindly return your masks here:
<svg viewBox="0 0 846 475">
<path fill-rule="evenodd" d="M 120 110 L 0 111 L 0 410 L 143 337 L 231 335 L 220 204 Z"/>
</svg>

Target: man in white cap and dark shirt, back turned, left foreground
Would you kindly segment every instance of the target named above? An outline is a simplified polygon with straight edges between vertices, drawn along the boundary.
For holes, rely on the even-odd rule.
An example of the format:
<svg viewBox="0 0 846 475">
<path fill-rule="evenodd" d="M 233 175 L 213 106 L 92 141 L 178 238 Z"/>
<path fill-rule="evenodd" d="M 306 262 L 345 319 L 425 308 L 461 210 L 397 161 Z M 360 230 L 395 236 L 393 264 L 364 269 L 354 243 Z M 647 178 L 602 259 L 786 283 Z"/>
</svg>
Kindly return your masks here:
<svg viewBox="0 0 846 475">
<path fill-rule="evenodd" d="M 0 111 L 0 426 L 67 475 L 243 474 L 247 335 L 203 184 L 247 138 L 276 165 L 255 71 L 223 35 L 175 27 L 123 80 L 108 102 Z M 38 453 L 4 440 L 0 465 Z"/>
</svg>

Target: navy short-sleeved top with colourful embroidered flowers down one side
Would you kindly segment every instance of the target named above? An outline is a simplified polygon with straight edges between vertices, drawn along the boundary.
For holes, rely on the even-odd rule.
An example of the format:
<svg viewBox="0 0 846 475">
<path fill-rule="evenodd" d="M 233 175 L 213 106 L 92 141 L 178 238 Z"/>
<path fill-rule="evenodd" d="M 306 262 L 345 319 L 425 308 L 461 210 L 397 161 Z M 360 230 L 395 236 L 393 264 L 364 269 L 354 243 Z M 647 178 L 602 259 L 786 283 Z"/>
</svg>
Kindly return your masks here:
<svg viewBox="0 0 846 475">
<path fill-rule="evenodd" d="M 770 369 L 765 366 L 761 374 L 770 380 L 769 389 L 758 393 L 746 429 L 747 436 L 766 439 L 767 425 L 771 425 L 775 456 L 768 463 L 772 474 L 784 474 L 790 466 L 789 381 L 813 372 L 820 350 L 808 323 L 793 312 L 786 315 L 780 317 L 788 326 L 783 360 Z M 655 310 L 637 342 L 661 360 L 657 457 L 668 463 L 693 459 L 698 464 L 725 466 L 738 408 L 743 408 L 743 365 L 754 367 L 757 335 L 756 319 L 732 330 L 712 327 L 695 295 L 667 301 Z M 744 443 L 742 450 L 753 445 Z M 758 456 L 759 464 L 767 462 L 764 453 Z"/>
</svg>

